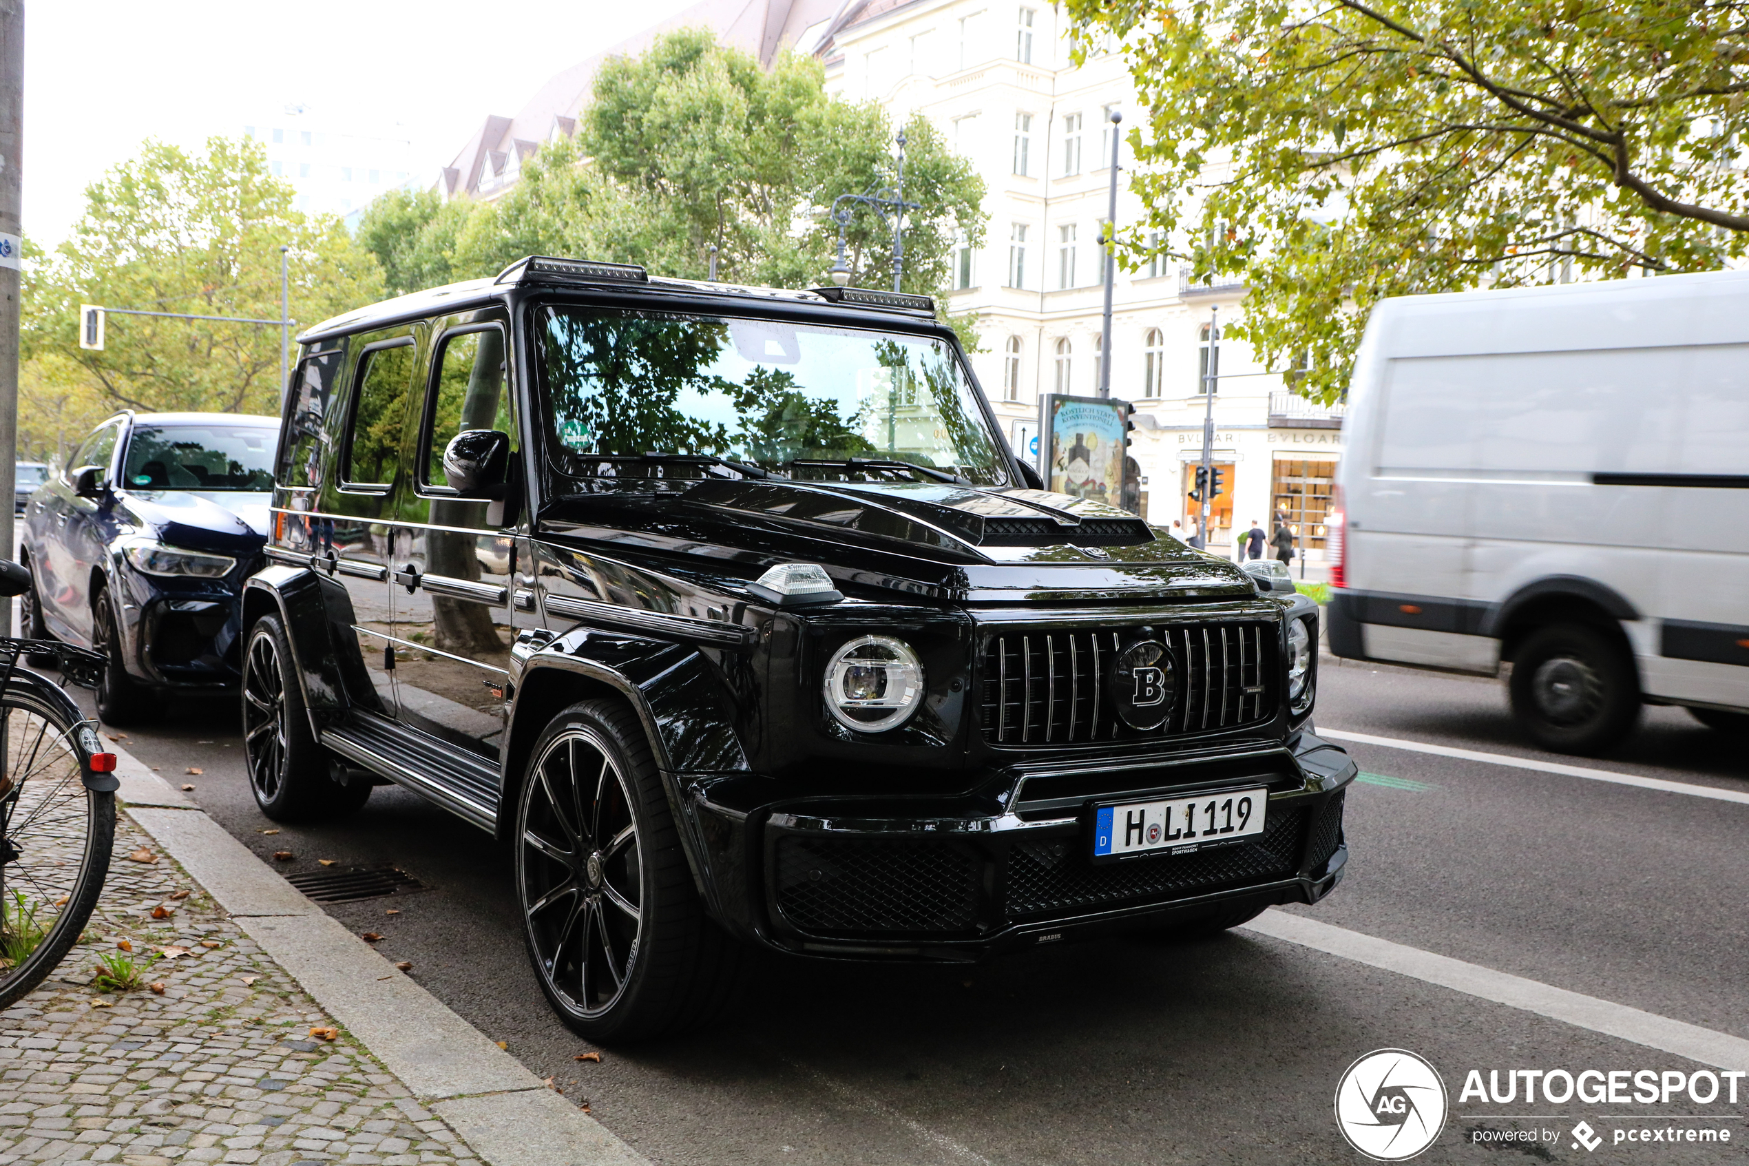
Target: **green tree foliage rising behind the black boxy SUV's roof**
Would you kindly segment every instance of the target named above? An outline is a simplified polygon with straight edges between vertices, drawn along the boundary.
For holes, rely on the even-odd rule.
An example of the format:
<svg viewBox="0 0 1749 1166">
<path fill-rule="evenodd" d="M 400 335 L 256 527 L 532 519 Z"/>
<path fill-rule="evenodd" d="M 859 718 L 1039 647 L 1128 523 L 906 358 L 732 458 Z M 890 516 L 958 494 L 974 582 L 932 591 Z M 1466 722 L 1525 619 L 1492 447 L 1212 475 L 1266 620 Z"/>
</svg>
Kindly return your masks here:
<svg viewBox="0 0 1749 1166">
<path fill-rule="evenodd" d="M 904 287 L 948 285 L 953 238 L 983 238 L 983 180 L 922 117 L 904 126 Z M 840 194 L 897 180 L 894 126 L 873 103 L 829 98 L 817 61 L 784 56 L 768 73 L 708 31 L 659 37 L 596 75 L 574 142 L 523 163 L 502 198 L 383 196 L 359 241 L 388 287 L 408 292 L 488 276 L 523 255 L 644 264 L 656 274 L 810 287 L 833 264 Z M 890 287 L 892 231 L 857 208 L 847 231 L 854 281 Z M 965 322 L 957 322 L 971 336 Z"/>
</svg>

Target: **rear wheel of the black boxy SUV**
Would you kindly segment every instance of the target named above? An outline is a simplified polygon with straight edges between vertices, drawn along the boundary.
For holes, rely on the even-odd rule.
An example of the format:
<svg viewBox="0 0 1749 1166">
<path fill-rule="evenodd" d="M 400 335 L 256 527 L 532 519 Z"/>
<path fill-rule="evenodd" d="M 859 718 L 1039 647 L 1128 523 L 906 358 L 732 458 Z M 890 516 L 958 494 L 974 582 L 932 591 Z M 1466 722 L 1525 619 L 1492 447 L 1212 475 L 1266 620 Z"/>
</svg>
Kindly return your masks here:
<svg viewBox="0 0 1749 1166">
<path fill-rule="evenodd" d="M 371 797 L 369 781 L 331 776 L 278 615 L 262 615 L 243 642 L 243 764 L 255 804 L 275 822 L 343 818 Z"/>
</svg>

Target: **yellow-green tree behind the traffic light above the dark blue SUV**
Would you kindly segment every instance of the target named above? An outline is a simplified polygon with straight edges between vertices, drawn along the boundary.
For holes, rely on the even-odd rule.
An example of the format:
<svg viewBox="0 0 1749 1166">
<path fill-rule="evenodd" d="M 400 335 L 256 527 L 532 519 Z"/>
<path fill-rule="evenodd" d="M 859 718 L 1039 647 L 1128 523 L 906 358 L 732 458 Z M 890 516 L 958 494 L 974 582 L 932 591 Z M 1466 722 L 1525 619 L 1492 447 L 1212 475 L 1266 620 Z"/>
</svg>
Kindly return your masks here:
<svg viewBox="0 0 1749 1166">
<path fill-rule="evenodd" d="M 292 199 L 257 143 L 210 138 L 205 154 L 187 154 L 147 142 L 86 189 L 72 238 L 28 274 L 24 358 L 61 385 L 82 378 L 108 409 L 278 413 L 276 325 L 112 315 L 103 351 L 75 337 L 80 302 L 276 320 L 282 245 L 299 325 L 380 299 L 371 252 Z"/>
</svg>

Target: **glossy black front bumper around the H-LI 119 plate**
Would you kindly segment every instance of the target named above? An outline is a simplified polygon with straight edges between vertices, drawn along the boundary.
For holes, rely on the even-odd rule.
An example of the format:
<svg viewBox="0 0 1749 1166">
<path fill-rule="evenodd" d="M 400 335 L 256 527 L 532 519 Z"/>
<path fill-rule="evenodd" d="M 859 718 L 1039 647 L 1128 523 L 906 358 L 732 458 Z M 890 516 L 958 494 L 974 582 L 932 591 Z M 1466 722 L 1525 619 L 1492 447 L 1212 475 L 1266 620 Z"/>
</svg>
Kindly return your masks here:
<svg viewBox="0 0 1749 1166">
<path fill-rule="evenodd" d="M 1270 785 L 1263 834 L 1104 865 L 1090 862 L 1095 802 L 1233 788 L 1240 759 L 1175 764 L 1156 771 L 1151 788 L 1112 774 L 1112 792 L 1042 816 L 1018 797 L 1006 801 L 1011 811 L 974 816 L 874 815 L 854 804 L 735 813 L 698 799 L 700 837 L 715 839 L 715 853 L 705 855 L 715 895 L 707 897 L 731 930 L 784 951 L 948 961 L 1240 906 L 1320 900 L 1348 860 L 1341 811 L 1354 762 L 1310 732 L 1244 759 Z"/>
</svg>

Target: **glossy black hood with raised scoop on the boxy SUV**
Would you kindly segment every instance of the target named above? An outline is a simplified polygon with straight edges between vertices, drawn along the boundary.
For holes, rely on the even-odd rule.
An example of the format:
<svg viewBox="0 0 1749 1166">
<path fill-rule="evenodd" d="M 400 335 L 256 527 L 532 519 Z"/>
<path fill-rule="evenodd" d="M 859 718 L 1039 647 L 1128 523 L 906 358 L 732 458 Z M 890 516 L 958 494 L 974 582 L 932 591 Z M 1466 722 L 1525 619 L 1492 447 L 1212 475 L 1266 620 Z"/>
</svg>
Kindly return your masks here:
<svg viewBox="0 0 1749 1166">
<path fill-rule="evenodd" d="M 787 479 L 609 488 L 556 500 L 540 528 L 745 563 L 810 561 L 847 582 L 972 600 L 1256 594 L 1226 559 L 1128 510 L 1042 489 Z"/>
</svg>

